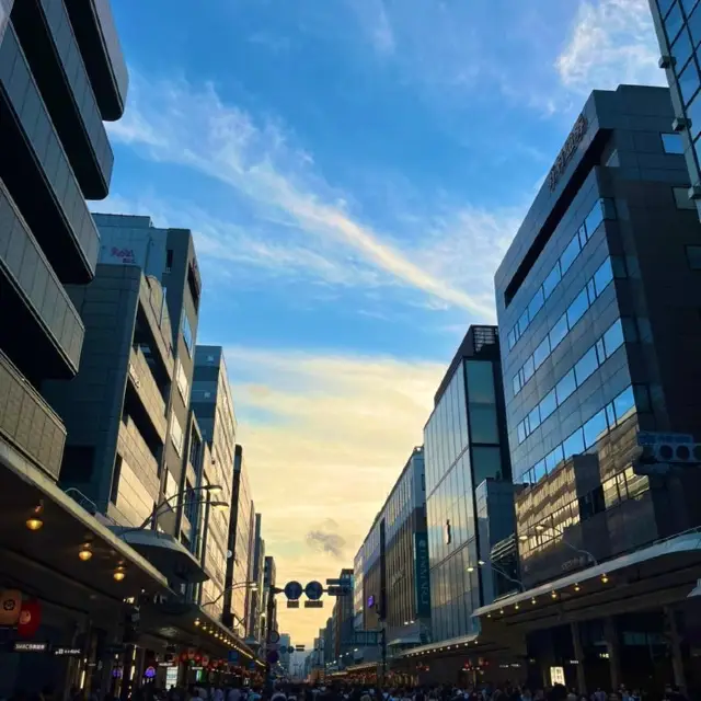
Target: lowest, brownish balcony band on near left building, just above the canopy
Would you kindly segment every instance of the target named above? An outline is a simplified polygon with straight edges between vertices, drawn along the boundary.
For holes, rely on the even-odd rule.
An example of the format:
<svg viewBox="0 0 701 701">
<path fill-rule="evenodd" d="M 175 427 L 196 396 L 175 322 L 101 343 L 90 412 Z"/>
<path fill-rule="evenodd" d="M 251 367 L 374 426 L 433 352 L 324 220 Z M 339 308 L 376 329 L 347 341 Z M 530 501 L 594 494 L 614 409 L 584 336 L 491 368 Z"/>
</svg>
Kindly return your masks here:
<svg viewBox="0 0 701 701">
<path fill-rule="evenodd" d="M 0 350 L 0 437 L 54 480 L 58 479 L 66 428 L 44 398 Z"/>
</svg>

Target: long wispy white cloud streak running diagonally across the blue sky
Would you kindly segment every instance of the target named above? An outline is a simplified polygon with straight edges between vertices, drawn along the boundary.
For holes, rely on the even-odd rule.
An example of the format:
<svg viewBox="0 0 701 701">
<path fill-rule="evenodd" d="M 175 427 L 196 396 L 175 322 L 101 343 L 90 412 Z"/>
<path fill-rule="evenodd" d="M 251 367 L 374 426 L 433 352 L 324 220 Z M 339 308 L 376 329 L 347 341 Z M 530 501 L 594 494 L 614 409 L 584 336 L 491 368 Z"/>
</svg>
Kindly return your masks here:
<svg viewBox="0 0 701 701">
<path fill-rule="evenodd" d="M 355 217 L 343 193 L 313 171 L 313 159 L 291 146 L 292 135 L 278 122 L 256 122 L 238 106 L 225 104 L 210 83 L 199 88 L 184 81 L 148 84 L 138 73 L 133 83 L 126 116 L 116 123 L 118 127 L 108 126 L 113 139 L 139 148 L 156 161 L 186 165 L 225 183 L 252 208 L 257 221 L 297 232 L 311 250 L 321 243 L 322 249 L 335 249 L 336 256 L 343 252 L 394 285 L 473 314 L 493 313 L 493 303 L 468 291 L 471 279 L 458 281 L 429 273 L 423 258 L 413 255 L 415 251 L 390 243 L 387 235 Z M 275 260 L 281 249 L 262 245 L 258 253 L 266 252 Z M 314 262 L 319 264 L 320 258 Z"/>
</svg>

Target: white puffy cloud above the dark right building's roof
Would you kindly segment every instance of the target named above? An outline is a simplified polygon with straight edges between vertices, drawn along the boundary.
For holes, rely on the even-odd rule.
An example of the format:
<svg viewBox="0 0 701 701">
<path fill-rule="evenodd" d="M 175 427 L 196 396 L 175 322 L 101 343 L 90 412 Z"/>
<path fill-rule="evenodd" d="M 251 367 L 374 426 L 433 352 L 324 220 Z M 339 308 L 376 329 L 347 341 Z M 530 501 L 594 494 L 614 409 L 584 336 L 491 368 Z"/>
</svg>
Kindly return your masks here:
<svg viewBox="0 0 701 701">
<path fill-rule="evenodd" d="M 565 88 L 588 94 L 620 83 L 666 85 L 658 57 L 647 0 L 585 0 L 555 67 Z"/>
</svg>

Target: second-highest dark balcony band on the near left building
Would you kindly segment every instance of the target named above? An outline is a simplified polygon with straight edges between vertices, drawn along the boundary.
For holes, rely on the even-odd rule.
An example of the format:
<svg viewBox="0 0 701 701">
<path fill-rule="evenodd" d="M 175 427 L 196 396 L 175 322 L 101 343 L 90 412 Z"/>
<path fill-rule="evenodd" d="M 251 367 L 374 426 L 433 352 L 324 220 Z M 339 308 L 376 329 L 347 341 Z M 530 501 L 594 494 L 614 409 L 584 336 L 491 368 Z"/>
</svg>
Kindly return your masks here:
<svg viewBox="0 0 701 701">
<path fill-rule="evenodd" d="M 12 24 L 83 195 L 106 197 L 114 154 L 66 5 L 23 0 Z"/>
</svg>

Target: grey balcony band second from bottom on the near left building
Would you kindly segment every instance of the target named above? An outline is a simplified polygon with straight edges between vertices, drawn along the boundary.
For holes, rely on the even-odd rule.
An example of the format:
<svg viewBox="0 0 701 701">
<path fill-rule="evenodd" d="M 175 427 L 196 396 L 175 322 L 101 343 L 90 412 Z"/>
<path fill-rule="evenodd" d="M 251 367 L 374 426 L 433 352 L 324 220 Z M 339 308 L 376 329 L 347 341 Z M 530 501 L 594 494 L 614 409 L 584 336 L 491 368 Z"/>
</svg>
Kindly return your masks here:
<svg viewBox="0 0 701 701">
<path fill-rule="evenodd" d="M 22 356 L 22 343 L 14 340 L 14 329 L 33 330 L 35 343 L 28 347 L 47 346 L 42 355 L 45 378 L 69 379 L 78 372 L 80 352 L 85 330 L 70 298 L 44 256 L 2 181 L 0 181 L 0 297 L 3 315 L 15 323 L 7 333 L 7 345 L 1 344 L 15 358 Z M 14 303 L 12 300 L 16 300 Z M 19 325 L 15 325 L 19 324 Z M 16 350 L 10 348 L 15 347 Z M 50 358 L 50 360 L 49 360 Z M 26 370 L 25 370 L 26 372 Z"/>
</svg>

